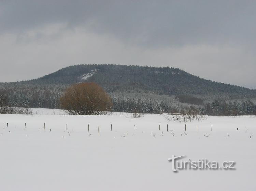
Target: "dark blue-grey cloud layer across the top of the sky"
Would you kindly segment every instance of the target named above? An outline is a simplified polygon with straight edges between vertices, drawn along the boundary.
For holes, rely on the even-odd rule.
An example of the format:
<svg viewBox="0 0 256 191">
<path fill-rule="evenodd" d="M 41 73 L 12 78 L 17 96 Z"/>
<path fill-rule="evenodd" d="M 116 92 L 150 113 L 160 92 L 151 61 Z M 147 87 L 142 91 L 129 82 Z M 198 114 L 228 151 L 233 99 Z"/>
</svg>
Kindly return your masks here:
<svg viewBox="0 0 256 191">
<path fill-rule="evenodd" d="M 255 43 L 255 1 L 3 1 L 1 32 L 56 22 L 145 46 Z"/>
</svg>

